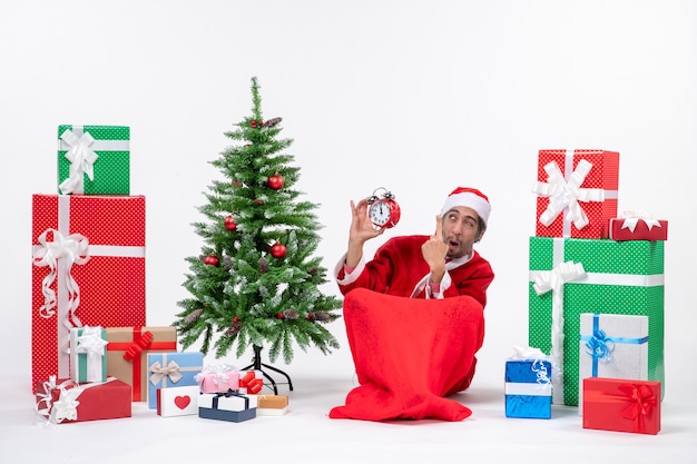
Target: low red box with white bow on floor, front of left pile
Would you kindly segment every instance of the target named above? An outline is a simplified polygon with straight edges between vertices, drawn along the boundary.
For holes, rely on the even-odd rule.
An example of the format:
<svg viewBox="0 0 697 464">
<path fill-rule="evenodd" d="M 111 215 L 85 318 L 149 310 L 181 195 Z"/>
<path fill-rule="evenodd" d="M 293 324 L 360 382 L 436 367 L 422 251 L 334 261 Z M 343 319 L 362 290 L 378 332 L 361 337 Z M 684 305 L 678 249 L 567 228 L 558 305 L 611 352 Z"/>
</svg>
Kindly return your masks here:
<svg viewBox="0 0 697 464">
<path fill-rule="evenodd" d="M 36 385 L 37 413 L 47 423 L 130 417 L 130 385 L 118 378 L 79 385 L 50 376 Z"/>
</svg>

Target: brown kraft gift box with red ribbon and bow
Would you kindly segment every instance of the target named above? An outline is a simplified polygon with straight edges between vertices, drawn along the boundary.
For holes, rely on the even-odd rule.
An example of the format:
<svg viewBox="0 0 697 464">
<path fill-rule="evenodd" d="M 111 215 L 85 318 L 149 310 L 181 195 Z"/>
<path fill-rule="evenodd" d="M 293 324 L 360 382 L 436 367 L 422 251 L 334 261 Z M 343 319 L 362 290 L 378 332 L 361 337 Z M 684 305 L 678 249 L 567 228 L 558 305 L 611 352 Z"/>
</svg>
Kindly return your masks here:
<svg viewBox="0 0 697 464">
<path fill-rule="evenodd" d="M 176 327 L 107 327 L 107 375 L 129 384 L 135 402 L 147 401 L 148 353 L 176 353 Z"/>
</svg>

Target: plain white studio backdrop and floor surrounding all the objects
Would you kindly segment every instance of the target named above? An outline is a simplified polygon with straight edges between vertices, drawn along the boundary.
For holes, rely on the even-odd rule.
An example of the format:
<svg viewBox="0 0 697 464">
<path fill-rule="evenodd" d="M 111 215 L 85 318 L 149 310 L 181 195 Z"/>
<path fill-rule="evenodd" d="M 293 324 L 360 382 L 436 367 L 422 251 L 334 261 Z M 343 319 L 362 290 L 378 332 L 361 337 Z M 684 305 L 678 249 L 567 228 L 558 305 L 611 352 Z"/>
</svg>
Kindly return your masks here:
<svg viewBox="0 0 697 464">
<path fill-rule="evenodd" d="M 593 456 L 593 448 L 616 458 L 636 453 L 632 462 L 697 462 L 689 395 L 697 381 L 690 357 L 696 2 L 2 3 L 3 450 L 27 462 L 78 462 L 101 453 L 105 461 L 122 462 L 156 453 L 168 437 L 175 445 L 188 437 L 190 450 L 175 455 L 204 456 L 205 445 L 229 455 L 264 448 L 268 454 L 259 457 L 317 462 L 355 462 L 363 453 L 375 461 L 473 454 L 480 462 L 563 453 L 569 462 Z M 164 426 L 138 405 L 137 419 L 50 431 L 32 426 L 31 195 L 57 191 L 58 125 L 131 127 L 131 194 L 147 201 L 147 323 L 169 325 L 176 303 L 187 296 L 185 257 L 198 255 L 202 245 L 190 223 L 202 219 L 196 207 L 219 177 L 209 161 L 229 144 L 223 132 L 251 113 L 252 76 L 259 80 L 264 117 L 283 117 L 282 136 L 294 139 L 288 152 L 301 168 L 296 187 L 304 199 L 321 205 L 317 253 L 326 268 L 345 248 L 352 198 L 387 187 L 402 206 L 399 226 L 371 244 L 370 253 L 395 234 L 430 234 L 457 186 L 478 187 L 490 197 L 490 227 L 478 249 L 497 277 L 479 373 L 462 398 L 473 416 L 410 426 L 326 418 L 354 384 L 338 320 L 331 328 L 340 351 L 324 356 L 297 349 L 291 365 L 278 366 L 296 383 L 293 414 L 273 424 L 247 424 L 253 433 L 242 424 L 204 432 L 213 426 L 195 417 L 167 419 Z M 576 413 L 566 411 L 542 423 L 502 415 L 503 361 L 514 345 L 527 345 L 528 239 L 536 220 L 531 186 L 541 148 L 619 151 L 620 211 L 638 209 L 669 221 L 659 436 L 583 431 Z M 323 289 L 338 295 L 333 282 Z M 251 357 L 207 361 L 242 366 Z M 194 430 L 187 428 L 194 424 L 189 418 L 196 419 Z M 138 430 L 157 434 L 159 446 L 138 442 Z M 216 443 L 223 430 L 220 442 L 227 442 Z M 98 438 L 127 433 L 141 450 L 114 453 Z M 87 444 L 79 444 L 80 435 Z M 351 444 L 359 440 L 364 445 Z M 35 446 L 39 443 L 45 446 Z M 436 446 L 422 447 L 429 443 Z"/>
</svg>

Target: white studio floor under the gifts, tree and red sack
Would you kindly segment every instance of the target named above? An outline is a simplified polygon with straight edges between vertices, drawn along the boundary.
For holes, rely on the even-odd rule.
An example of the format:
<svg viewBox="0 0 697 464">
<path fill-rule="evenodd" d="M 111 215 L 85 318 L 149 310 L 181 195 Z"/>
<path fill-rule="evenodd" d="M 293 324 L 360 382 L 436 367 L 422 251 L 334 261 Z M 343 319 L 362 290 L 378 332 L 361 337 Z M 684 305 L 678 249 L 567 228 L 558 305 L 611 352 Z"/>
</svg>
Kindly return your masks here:
<svg viewBox="0 0 697 464">
<path fill-rule="evenodd" d="M 36 422 L 29 383 L 6 374 L 0 379 L 0 450 L 2 461 L 12 464 L 697 463 L 697 406 L 687 385 L 675 385 L 666 395 L 658 435 L 583 430 L 575 407 L 553 406 L 551 419 L 505 418 L 502 385 L 487 372 L 457 396 L 473 411 L 457 423 L 331 419 L 328 411 L 343 404 L 354 379 L 300 372 L 292 375 L 292 392 L 278 385 L 278 393 L 291 396 L 284 416 L 244 423 L 163 418 L 135 403 L 130 418 L 46 427 Z"/>
</svg>

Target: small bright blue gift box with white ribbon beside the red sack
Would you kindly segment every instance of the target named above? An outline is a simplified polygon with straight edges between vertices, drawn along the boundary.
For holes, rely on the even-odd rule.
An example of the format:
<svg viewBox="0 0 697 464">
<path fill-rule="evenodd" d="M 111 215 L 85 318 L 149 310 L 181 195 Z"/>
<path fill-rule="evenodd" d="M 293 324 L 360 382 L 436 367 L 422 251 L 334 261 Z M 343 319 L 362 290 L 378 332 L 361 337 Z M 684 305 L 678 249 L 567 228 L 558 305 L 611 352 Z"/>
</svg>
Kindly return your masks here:
<svg viewBox="0 0 697 464">
<path fill-rule="evenodd" d="M 552 365 L 546 359 L 505 362 L 505 416 L 551 418 Z"/>
</svg>

